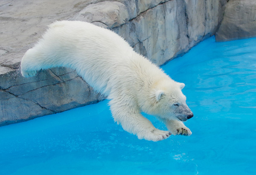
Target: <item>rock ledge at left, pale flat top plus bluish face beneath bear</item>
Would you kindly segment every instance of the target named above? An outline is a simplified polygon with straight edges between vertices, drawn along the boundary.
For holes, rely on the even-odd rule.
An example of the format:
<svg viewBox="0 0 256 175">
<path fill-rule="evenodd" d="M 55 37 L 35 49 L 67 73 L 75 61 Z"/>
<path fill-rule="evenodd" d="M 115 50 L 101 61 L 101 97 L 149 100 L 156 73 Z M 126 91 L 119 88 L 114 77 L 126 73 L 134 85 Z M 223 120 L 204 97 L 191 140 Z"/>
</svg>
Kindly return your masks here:
<svg viewBox="0 0 256 175">
<path fill-rule="evenodd" d="M 37 42 L 47 25 L 68 20 L 99 1 L 0 1 L 0 126 L 104 99 L 74 70 L 54 68 L 31 78 L 22 77 L 19 70 L 24 53 Z"/>
</svg>

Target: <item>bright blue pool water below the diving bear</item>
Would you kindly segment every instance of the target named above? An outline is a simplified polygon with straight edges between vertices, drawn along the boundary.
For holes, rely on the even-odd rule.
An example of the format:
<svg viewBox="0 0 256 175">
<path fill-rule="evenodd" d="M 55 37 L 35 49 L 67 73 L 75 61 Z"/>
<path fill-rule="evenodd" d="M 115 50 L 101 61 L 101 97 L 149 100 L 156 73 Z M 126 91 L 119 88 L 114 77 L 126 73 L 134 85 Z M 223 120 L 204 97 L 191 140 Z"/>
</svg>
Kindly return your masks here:
<svg viewBox="0 0 256 175">
<path fill-rule="evenodd" d="M 138 140 L 114 123 L 105 100 L 0 127 L 0 174 L 256 174 L 256 38 L 211 37 L 162 68 L 186 84 L 190 137 Z"/>
</svg>

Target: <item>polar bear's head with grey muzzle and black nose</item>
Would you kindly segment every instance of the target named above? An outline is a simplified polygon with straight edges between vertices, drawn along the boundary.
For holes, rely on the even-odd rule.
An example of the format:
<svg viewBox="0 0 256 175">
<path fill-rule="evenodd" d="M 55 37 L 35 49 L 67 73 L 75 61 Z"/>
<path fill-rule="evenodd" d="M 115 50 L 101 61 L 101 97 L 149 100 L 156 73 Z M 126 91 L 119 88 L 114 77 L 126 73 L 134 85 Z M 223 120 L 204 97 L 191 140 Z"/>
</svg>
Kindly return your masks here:
<svg viewBox="0 0 256 175">
<path fill-rule="evenodd" d="M 151 103 L 148 106 L 148 114 L 162 119 L 186 121 L 193 117 L 192 111 L 186 104 L 186 96 L 181 90 L 184 83 L 163 82 L 158 84 L 151 92 Z"/>
</svg>

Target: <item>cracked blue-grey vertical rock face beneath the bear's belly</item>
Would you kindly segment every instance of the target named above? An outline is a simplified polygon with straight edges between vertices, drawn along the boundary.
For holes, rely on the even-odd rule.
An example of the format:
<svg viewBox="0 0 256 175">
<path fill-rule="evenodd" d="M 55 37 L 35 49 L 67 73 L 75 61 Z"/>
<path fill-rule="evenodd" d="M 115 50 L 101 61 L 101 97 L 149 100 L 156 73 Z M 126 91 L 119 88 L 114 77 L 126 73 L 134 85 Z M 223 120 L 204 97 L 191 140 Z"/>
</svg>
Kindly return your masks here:
<svg viewBox="0 0 256 175">
<path fill-rule="evenodd" d="M 30 78 L 12 71 L 0 75 L 0 126 L 104 99 L 71 69 L 40 71 Z"/>
</svg>

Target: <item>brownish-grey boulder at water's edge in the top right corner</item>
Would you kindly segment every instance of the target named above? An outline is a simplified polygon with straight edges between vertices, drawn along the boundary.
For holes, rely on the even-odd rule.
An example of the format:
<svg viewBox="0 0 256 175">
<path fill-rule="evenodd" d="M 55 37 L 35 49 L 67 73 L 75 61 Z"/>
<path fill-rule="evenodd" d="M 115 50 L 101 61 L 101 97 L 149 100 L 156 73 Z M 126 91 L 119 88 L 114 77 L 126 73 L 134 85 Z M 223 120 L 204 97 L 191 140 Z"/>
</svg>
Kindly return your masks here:
<svg viewBox="0 0 256 175">
<path fill-rule="evenodd" d="M 230 0 L 216 40 L 256 37 L 256 0 Z"/>
</svg>

